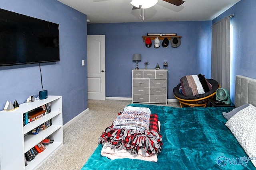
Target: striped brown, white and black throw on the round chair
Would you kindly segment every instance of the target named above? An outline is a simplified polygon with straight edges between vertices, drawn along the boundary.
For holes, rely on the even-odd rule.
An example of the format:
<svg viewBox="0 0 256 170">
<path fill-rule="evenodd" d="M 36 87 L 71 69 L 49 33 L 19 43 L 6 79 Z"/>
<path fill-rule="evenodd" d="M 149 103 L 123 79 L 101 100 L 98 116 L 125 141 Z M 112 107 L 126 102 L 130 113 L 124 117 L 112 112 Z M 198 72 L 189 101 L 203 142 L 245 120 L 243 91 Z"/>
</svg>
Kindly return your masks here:
<svg viewBox="0 0 256 170">
<path fill-rule="evenodd" d="M 184 96 L 195 96 L 212 90 L 211 84 L 202 74 L 184 76 L 180 79 L 180 83 Z"/>
</svg>

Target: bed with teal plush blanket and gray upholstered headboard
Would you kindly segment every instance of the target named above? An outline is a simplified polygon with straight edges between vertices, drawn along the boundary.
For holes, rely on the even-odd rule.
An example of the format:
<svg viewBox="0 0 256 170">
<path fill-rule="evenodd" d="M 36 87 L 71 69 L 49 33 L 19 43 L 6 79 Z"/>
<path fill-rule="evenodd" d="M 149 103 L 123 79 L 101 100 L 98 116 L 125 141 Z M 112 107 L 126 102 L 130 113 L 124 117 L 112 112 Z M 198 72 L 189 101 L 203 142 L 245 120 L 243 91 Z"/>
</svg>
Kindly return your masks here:
<svg viewBox="0 0 256 170">
<path fill-rule="evenodd" d="M 236 106 L 246 103 L 256 106 L 255 89 L 256 80 L 236 76 Z M 252 161 L 248 161 L 246 151 L 225 125 L 227 119 L 222 112 L 230 113 L 233 108 L 176 108 L 144 104 L 129 106 L 147 107 L 151 113 L 158 114 L 163 141 L 158 161 L 128 158 L 110 160 L 100 155 L 102 145 L 98 145 L 82 170 L 255 169 Z M 230 120 L 238 114 L 240 111 Z"/>
</svg>

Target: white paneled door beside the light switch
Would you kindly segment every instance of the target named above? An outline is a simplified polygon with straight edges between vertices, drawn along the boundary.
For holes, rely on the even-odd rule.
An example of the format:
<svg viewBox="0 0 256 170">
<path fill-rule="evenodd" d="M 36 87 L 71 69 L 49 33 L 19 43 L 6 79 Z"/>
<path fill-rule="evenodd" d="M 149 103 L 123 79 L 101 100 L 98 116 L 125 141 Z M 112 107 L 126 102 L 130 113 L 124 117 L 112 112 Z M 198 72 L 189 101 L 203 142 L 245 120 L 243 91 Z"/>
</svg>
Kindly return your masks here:
<svg viewBox="0 0 256 170">
<path fill-rule="evenodd" d="M 105 100 L 105 35 L 87 35 L 88 100 Z"/>
</svg>

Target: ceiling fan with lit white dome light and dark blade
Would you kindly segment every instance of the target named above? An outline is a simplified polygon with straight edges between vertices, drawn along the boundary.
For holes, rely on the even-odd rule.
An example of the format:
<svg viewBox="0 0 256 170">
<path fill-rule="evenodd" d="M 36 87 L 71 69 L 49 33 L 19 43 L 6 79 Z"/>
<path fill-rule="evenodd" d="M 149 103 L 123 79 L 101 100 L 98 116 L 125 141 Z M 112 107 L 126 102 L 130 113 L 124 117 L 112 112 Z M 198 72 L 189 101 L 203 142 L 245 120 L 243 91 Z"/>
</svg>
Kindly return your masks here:
<svg viewBox="0 0 256 170">
<path fill-rule="evenodd" d="M 176 6 L 180 6 L 185 1 L 184 0 L 163 0 L 165 2 L 168 2 L 170 4 L 174 4 Z M 141 9 L 141 8 L 150 8 L 154 6 L 158 1 L 157 0 L 132 0 L 131 4 L 133 5 L 133 10 Z"/>
</svg>

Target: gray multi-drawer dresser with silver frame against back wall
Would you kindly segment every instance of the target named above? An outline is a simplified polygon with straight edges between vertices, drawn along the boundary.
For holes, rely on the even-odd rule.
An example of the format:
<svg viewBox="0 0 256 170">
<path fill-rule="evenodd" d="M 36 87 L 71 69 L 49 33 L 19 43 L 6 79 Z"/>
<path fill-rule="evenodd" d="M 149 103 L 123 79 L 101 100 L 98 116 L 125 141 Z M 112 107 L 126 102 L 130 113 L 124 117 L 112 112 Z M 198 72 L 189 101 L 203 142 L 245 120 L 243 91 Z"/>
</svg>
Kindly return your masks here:
<svg viewBox="0 0 256 170">
<path fill-rule="evenodd" d="M 167 104 L 167 70 L 132 70 L 132 102 Z"/>
</svg>

